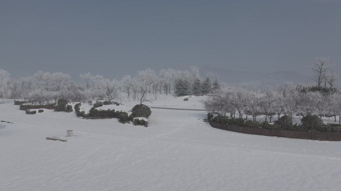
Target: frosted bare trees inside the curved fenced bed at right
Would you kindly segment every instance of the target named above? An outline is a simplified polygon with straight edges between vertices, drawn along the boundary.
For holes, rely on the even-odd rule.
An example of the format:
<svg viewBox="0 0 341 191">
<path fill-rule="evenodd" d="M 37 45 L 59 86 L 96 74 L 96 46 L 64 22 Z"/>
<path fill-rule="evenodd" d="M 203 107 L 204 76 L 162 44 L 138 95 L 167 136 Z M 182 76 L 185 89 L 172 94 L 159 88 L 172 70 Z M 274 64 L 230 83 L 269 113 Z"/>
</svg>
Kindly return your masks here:
<svg viewBox="0 0 341 191">
<path fill-rule="evenodd" d="M 265 121 L 282 115 L 297 116 L 318 115 L 334 117 L 341 121 L 341 94 L 338 92 L 323 93 L 306 92 L 299 87 L 282 85 L 277 90 L 267 89 L 263 92 L 247 90 L 228 90 L 209 95 L 204 100 L 205 108 L 221 115 L 229 114 L 231 118 L 248 118 L 253 121 L 257 116 L 264 115 Z"/>
</svg>

